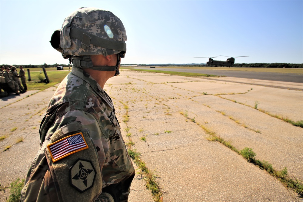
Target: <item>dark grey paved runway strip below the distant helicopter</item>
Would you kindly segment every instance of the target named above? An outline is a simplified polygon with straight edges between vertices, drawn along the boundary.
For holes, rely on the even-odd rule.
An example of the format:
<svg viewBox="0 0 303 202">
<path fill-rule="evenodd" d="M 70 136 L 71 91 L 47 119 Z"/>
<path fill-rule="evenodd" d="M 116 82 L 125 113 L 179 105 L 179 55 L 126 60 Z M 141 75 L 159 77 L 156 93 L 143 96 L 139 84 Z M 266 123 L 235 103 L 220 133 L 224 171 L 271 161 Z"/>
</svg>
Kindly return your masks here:
<svg viewBox="0 0 303 202">
<path fill-rule="evenodd" d="M 147 69 L 146 67 L 135 67 L 136 69 Z M 217 76 L 227 76 L 235 78 L 251 78 L 259 80 L 268 81 L 285 81 L 294 83 L 303 83 L 303 76 L 297 74 L 286 74 L 286 73 L 275 73 L 275 72 L 254 72 L 254 71 L 228 71 L 228 70 L 208 70 L 208 69 L 179 69 L 179 68 L 165 68 L 156 67 L 157 70 L 161 71 L 177 71 L 177 72 L 190 72 L 190 73 L 200 73 L 209 74 Z"/>
</svg>

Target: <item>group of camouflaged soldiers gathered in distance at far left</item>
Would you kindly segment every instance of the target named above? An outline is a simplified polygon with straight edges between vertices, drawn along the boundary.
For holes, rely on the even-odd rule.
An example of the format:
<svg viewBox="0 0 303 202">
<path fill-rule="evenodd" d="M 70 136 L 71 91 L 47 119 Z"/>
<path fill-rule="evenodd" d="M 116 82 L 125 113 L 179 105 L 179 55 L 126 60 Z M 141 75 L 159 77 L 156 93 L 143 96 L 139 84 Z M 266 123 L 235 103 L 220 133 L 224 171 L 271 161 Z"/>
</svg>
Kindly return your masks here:
<svg viewBox="0 0 303 202">
<path fill-rule="evenodd" d="M 19 95 L 27 91 L 25 71 L 23 69 L 23 66 L 19 66 L 19 69 L 20 71 L 18 74 L 17 68 L 15 66 L 1 66 L 1 97 L 6 97 L 9 95 L 9 93 L 13 92 Z M 19 78 L 21 78 L 21 81 Z"/>
</svg>

